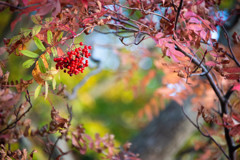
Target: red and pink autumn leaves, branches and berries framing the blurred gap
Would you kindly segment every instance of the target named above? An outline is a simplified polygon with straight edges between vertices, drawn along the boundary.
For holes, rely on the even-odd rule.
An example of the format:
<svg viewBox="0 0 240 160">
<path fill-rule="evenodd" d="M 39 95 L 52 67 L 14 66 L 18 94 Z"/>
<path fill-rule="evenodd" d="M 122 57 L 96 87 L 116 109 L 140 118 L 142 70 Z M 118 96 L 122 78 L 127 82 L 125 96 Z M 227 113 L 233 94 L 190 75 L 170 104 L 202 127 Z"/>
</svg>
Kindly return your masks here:
<svg viewBox="0 0 240 160">
<path fill-rule="evenodd" d="M 120 150 L 115 147 L 113 135 L 100 137 L 96 134 L 93 138 L 85 133 L 82 125 L 71 126 L 72 110 L 68 105 L 69 116 L 62 117 L 52 104 L 52 120 L 39 129 L 32 128 L 27 119 L 33 107 L 31 99 L 40 95 L 47 98 L 49 92 L 63 98 L 68 96 L 64 87 L 56 83 L 60 70 L 71 81 L 72 77 L 84 72 L 89 61 L 99 63 L 91 55 L 94 44 L 76 40 L 79 36 L 85 35 L 87 39 L 89 34 L 99 32 L 119 37 L 126 46 L 140 45 L 149 39 L 155 43 L 157 51 L 145 49 L 145 56 L 153 59 L 154 69 L 144 78 L 143 86 L 158 70 L 164 76 L 152 99 L 139 110 L 140 117 L 147 115 L 151 120 L 159 106 L 163 108 L 166 99 L 175 100 L 182 105 L 192 125 L 210 140 L 199 159 L 236 160 L 240 157 L 237 153 L 240 147 L 240 56 L 237 49 L 240 36 L 237 32 L 230 35 L 225 23 L 239 14 L 239 4 L 231 10 L 227 20 L 221 16 L 219 5 L 220 0 L 0 1 L 1 11 L 10 8 L 12 13 L 18 13 L 11 22 L 12 31 L 23 18 L 33 22 L 32 27 L 22 28 L 15 36 L 4 38 L 0 50 L 0 55 L 27 58 L 21 70 L 31 70 L 31 79 L 10 82 L 9 72 L 4 68 L 9 65 L 7 58 L 0 61 L 1 159 L 34 157 L 37 149 L 29 153 L 26 149 L 9 147 L 22 136 L 39 139 L 49 159 L 55 148 L 60 152 L 56 159 L 71 150 L 80 154 L 92 150 L 100 153 L 103 159 L 139 159 L 137 154 L 130 152 L 128 143 Z M 224 32 L 226 46 L 213 38 L 217 28 Z M 36 49 L 29 47 L 30 44 Z M 129 73 L 136 70 L 136 59 L 121 53 L 119 56 L 123 62 L 131 63 Z M 37 87 L 31 95 L 28 88 L 32 84 Z M 170 84 L 175 87 L 169 87 Z M 25 101 L 20 98 L 22 94 Z M 184 101 L 189 98 L 197 112 L 195 121 L 184 112 Z M 200 119 L 204 123 L 200 123 Z M 54 134 L 58 137 L 56 141 L 46 138 Z M 60 139 L 70 144 L 68 152 L 57 145 Z"/>
</svg>

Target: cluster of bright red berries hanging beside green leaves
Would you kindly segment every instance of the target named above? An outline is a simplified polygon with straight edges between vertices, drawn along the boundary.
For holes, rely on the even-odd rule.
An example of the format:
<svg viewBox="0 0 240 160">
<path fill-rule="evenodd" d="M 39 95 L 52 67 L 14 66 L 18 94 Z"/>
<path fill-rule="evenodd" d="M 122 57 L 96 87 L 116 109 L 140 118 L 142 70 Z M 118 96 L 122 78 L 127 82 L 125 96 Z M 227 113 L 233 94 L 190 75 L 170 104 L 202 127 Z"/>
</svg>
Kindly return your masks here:
<svg viewBox="0 0 240 160">
<path fill-rule="evenodd" d="M 83 42 L 80 42 L 80 47 L 75 48 L 75 50 L 68 51 L 67 56 L 54 58 L 56 62 L 56 69 L 61 69 L 64 73 L 68 73 L 70 76 L 73 74 L 77 75 L 78 73 L 83 73 L 85 67 L 88 66 L 88 58 L 91 56 L 91 53 L 88 50 L 91 50 L 91 46 L 84 46 Z"/>
</svg>

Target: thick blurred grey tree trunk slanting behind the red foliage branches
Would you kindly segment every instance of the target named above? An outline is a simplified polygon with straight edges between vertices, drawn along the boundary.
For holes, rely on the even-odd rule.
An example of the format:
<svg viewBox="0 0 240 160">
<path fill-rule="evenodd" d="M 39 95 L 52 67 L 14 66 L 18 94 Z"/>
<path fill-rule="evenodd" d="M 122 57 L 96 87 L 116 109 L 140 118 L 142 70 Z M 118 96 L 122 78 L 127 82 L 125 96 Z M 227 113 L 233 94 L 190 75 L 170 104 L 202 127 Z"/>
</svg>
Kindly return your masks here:
<svg viewBox="0 0 240 160">
<path fill-rule="evenodd" d="M 187 101 L 184 106 L 185 112 L 189 114 L 190 102 Z M 189 116 L 196 115 L 191 113 Z M 172 160 L 194 130 L 194 126 L 182 113 L 181 106 L 172 101 L 133 139 L 131 148 L 143 160 Z"/>
</svg>

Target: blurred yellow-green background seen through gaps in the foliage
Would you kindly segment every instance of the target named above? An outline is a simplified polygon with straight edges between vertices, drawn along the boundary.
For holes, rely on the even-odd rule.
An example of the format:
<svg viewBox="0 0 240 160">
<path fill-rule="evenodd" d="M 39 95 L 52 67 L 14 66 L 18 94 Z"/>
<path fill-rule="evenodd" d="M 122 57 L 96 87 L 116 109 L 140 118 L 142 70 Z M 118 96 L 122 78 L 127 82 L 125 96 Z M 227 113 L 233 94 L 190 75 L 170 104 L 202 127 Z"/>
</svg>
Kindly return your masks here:
<svg viewBox="0 0 240 160">
<path fill-rule="evenodd" d="M 33 24 L 25 23 L 25 19 L 23 19 L 23 21 L 19 22 L 16 26 L 15 30 L 11 32 L 9 30 L 9 24 L 11 20 L 14 19 L 14 16 L 15 15 L 11 14 L 8 9 L 0 12 L 1 38 L 11 38 L 11 36 L 17 34 L 22 27 L 32 27 Z M 72 126 L 84 124 L 86 133 L 91 136 L 94 136 L 96 133 L 100 133 L 101 136 L 107 133 L 113 134 L 118 146 L 131 140 L 131 138 L 147 124 L 147 117 L 139 118 L 137 116 L 138 111 L 149 102 L 154 90 L 159 87 L 162 73 L 159 71 L 143 91 L 141 81 L 148 74 L 149 70 L 154 69 L 154 67 L 152 59 L 147 58 L 141 53 L 142 46 L 126 48 L 117 38 L 111 35 L 103 37 L 100 34 L 94 34 L 96 33 L 93 33 L 91 36 L 81 36 L 76 41 L 83 41 L 87 45 L 90 44 L 94 47 L 93 55 L 96 59 L 100 59 L 102 71 L 90 77 L 78 90 L 77 96 L 73 100 L 68 100 L 67 97 L 64 96 L 56 96 L 51 90 L 49 90 L 47 99 L 44 98 L 43 94 L 40 94 L 38 98 L 34 99 L 34 91 L 38 86 L 38 84 L 34 82 L 29 88 L 30 95 L 32 95 L 33 108 L 28 116 L 32 120 L 35 128 L 41 128 L 51 120 L 51 104 L 60 111 L 60 115 L 66 118 L 68 117 L 66 106 L 69 104 L 73 108 Z M 97 38 L 93 38 L 95 36 Z M 92 39 L 95 40 L 93 41 Z M 99 39 L 105 39 L 105 41 L 98 43 Z M 109 44 L 109 42 L 112 42 L 112 46 L 106 49 L 107 47 L 104 45 Z M 120 47 L 114 48 L 114 45 Z M 37 52 L 36 46 L 31 42 L 27 44 L 27 49 Z M 114 50 L 117 50 L 117 52 Z M 135 63 L 139 68 L 130 72 L 129 70 L 132 64 L 127 63 L 120 65 L 121 59 L 117 55 L 118 52 L 126 54 L 126 57 L 136 57 Z M 22 63 L 28 58 L 19 57 L 14 54 L 8 55 L 8 53 L 5 53 L 0 58 L 7 59 L 6 67 L 3 68 L 3 70 L 10 72 L 9 81 L 20 79 L 29 80 L 32 78 L 31 71 L 33 67 L 29 69 L 22 67 Z M 96 64 L 91 61 L 90 67 L 86 69 L 83 74 L 77 76 L 70 77 L 60 71 L 55 76 L 57 86 L 60 84 L 65 85 L 66 91 L 71 93 L 72 89 L 81 82 L 87 74 L 96 68 Z M 42 87 L 42 92 L 44 92 L 44 87 Z M 135 92 L 137 92 L 137 94 Z M 38 152 L 34 155 L 34 159 L 45 159 L 46 154 L 40 149 L 40 146 L 34 145 L 33 143 L 30 146 L 32 149 L 38 147 L 35 148 Z M 15 147 L 17 148 L 18 145 L 16 144 Z M 97 155 L 90 152 L 83 159 L 96 158 Z"/>
</svg>

